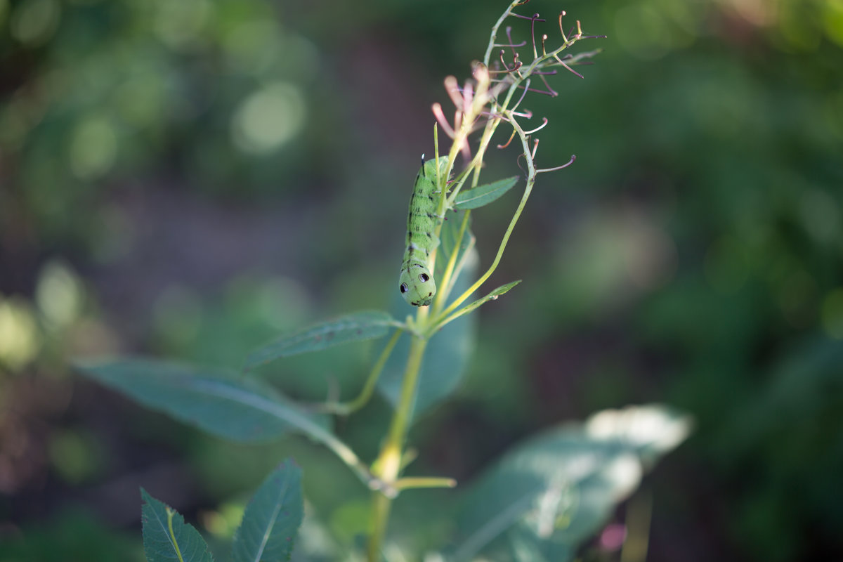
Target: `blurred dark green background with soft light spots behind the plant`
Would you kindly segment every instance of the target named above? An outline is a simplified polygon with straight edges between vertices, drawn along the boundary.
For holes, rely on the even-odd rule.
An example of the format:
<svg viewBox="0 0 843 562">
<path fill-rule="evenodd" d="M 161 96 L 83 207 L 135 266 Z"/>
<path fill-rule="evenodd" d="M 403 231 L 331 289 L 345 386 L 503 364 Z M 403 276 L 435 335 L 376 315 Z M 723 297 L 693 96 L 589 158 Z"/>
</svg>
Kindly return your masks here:
<svg viewBox="0 0 843 562">
<path fill-rule="evenodd" d="M 0 0 L 0 560 L 142 559 L 139 485 L 224 540 L 290 454 L 338 540 L 359 530 L 367 495 L 329 453 L 218 442 L 69 360 L 236 368 L 279 331 L 384 308 L 430 104 L 503 8 Z M 562 8 L 604 52 L 525 106 L 550 120 L 539 165 L 577 162 L 540 176 L 489 288 L 524 283 L 481 310 L 419 462 L 468 481 L 542 427 L 664 402 L 696 426 L 645 480 L 649 560 L 843 558 L 843 2 L 520 12 L 556 37 Z M 482 264 L 517 197 L 476 213 Z M 275 376 L 318 398 L 371 351 Z M 388 411 L 341 437 L 373 458 Z"/>
</svg>

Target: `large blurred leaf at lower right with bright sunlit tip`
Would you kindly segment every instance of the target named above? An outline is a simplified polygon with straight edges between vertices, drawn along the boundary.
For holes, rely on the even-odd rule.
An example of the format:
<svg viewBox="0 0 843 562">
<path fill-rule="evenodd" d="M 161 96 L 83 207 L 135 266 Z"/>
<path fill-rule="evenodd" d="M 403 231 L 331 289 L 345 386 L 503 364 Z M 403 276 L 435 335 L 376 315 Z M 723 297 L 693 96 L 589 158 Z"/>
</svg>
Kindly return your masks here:
<svg viewBox="0 0 843 562">
<path fill-rule="evenodd" d="M 542 552 L 574 552 L 636 489 L 646 463 L 688 431 L 687 417 L 650 405 L 599 412 L 515 447 L 470 487 L 451 559 L 471 559 L 505 533 Z"/>
</svg>

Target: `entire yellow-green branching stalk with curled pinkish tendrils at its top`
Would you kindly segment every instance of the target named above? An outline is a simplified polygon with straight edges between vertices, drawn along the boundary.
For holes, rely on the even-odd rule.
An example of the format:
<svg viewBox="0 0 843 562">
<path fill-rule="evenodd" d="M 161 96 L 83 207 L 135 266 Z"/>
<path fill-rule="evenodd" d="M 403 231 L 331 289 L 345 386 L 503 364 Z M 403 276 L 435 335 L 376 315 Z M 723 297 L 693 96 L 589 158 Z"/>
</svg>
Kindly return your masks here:
<svg viewBox="0 0 843 562">
<path fill-rule="evenodd" d="M 369 562 L 378 562 L 381 559 L 381 550 L 389 522 L 391 501 L 400 490 L 421 487 L 453 487 L 456 485 L 453 479 L 448 478 L 400 478 L 401 470 L 409 462 L 410 458 L 410 453 L 405 452 L 404 447 L 407 431 L 409 430 L 413 416 L 413 406 L 416 402 L 416 389 L 421 373 L 421 361 L 427 349 L 428 340 L 445 324 L 448 324 L 448 322 L 459 318 L 464 313 L 472 312 L 482 302 L 496 298 L 500 294 L 498 292 L 492 292 L 484 297 L 484 299 L 460 308 L 488 280 L 500 264 L 513 229 L 518 223 L 518 219 L 521 217 L 524 206 L 526 206 L 529 195 L 533 190 L 536 176 L 552 170 L 566 168 L 574 160 L 574 157 L 571 157 L 570 161 L 566 164 L 538 169 L 535 165 L 538 140 L 532 139 L 532 135 L 542 130 L 548 124 L 548 120 L 543 119 L 542 125 L 529 127 L 529 130 L 525 131 L 524 127 L 518 123 L 518 119 L 529 119 L 532 113 L 528 110 L 519 110 L 518 108 L 524 102 L 524 98 L 528 92 L 539 92 L 551 96 L 558 95 L 555 90 L 550 88 L 550 84 L 547 82 L 545 76 L 556 74 L 559 68 L 564 68 L 582 78 L 582 75 L 575 72 L 572 66 L 580 63 L 583 59 L 597 54 L 599 51 L 580 53 L 573 56 L 561 56 L 562 51 L 574 45 L 578 40 L 593 37 L 583 35 L 578 21 L 576 26 L 566 33 L 562 24 L 563 16 L 566 15 L 565 12 L 559 14 L 559 31 L 563 40 L 561 46 L 548 51 L 546 44 L 548 36 L 541 35 L 541 48 L 539 49 L 536 42 L 535 24 L 537 22 L 545 22 L 545 19 L 540 19 L 539 14 L 528 17 L 513 13 L 514 8 L 522 6 L 527 2 L 529 0 L 515 0 L 510 3 L 500 19 L 492 26 L 489 44 L 486 48 L 483 62 L 475 62 L 472 65 L 473 81 L 467 81 L 460 88 L 456 78 L 448 77 L 445 79 L 445 89 L 456 108 L 453 124 L 445 118 L 444 110 L 440 104 L 433 104 L 432 106 L 433 115 L 436 117 L 438 124 L 434 126 L 434 158 L 436 158 L 437 162 L 440 154 L 438 143 L 439 127 L 441 127 L 441 130 L 452 141 L 451 147 L 448 149 L 447 166 L 443 174 L 440 174 L 438 171 L 437 175 L 437 190 L 439 193 L 437 208 L 440 217 L 444 217 L 446 211 L 454 208 L 456 198 L 466 185 L 466 182 L 469 183 L 469 188 L 467 189 L 475 188 L 479 184 L 481 169 L 486 158 L 491 137 L 497 131 L 497 127 L 502 123 L 507 123 L 507 125 L 513 128 L 513 135 L 505 145 L 499 146 L 499 148 L 507 147 L 513 141 L 514 137 L 518 136 L 518 140 L 524 151 L 522 156 L 527 165 L 526 184 L 524 185 L 524 192 L 521 195 L 518 206 L 513 212 L 513 217 L 510 219 L 507 229 L 503 233 L 495 257 L 486 271 L 466 291 L 455 297 L 446 306 L 446 302 L 449 301 L 451 292 L 454 289 L 454 281 L 464 271 L 466 258 L 474 248 L 474 237 L 468 230 L 470 211 L 464 211 L 462 223 L 459 227 L 459 234 L 454 241 L 454 247 L 450 249 L 448 262 L 444 267 L 443 276 L 439 280 L 440 289 L 436 297 L 434 297 L 432 306 L 418 308 L 416 318 L 407 317 L 404 329 L 411 335 L 410 354 L 407 358 L 404 379 L 401 384 L 398 403 L 395 404 L 389 433 L 384 440 L 379 457 L 373 463 L 372 468 L 374 482 L 377 483 L 376 485 L 379 484 L 380 487 L 373 493 L 372 521 L 369 528 L 368 540 Z M 505 29 L 507 43 L 496 42 L 502 24 L 510 17 L 528 19 L 530 21 L 533 56 L 528 64 L 525 64 L 519 59 L 518 51 L 516 51 L 518 47 L 527 45 L 527 41 L 514 43 L 509 27 Z M 576 30 L 576 33 L 574 33 L 574 30 Z M 500 63 L 498 64 L 496 61 L 492 68 L 491 58 L 496 48 L 500 49 Z M 506 48 L 512 51 L 511 62 L 507 62 L 505 58 Z M 534 77 L 540 78 L 540 82 L 544 84 L 546 90 L 534 88 Z M 482 131 L 481 138 L 475 153 L 472 155 L 469 137 L 478 130 Z M 453 180 L 448 182 L 455 169 L 456 158 L 459 154 L 462 154 L 464 157 L 465 167 L 458 174 L 455 174 Z M 437 170 L 439 170 L 438 166 Z M 441 236 L 442 228 L 443 222 L 440 221 L 434 228 L 434 234 L 437 238 Z M 458 258 L 465 236 L 469 236 L 470 238 L 461 257 Z M 431 270 L 435 265 L 437 254 L 437 249 L 433 249 L 430 254 L 428 265 Z M 501 287 L 501 289 L 505 292 L 514 286 L 514 284 L 515 282 Z M 369 377 L 361 396 L 350 404 L 357 407 L 365 404 L 365 401 L 368 400 L 368 396 L 371 394 L 371 389 L 374 386 L 374 381 L 377 380 L 380 369 L 389 356 L 392 346 L 395 345 L 397 337 L 398 334 L 396 333 L 393 336 L 393 340 L 390 340 L 387 348 L 384 349 L 384 352 L 379 357 L 379 361 L 373 367 L 372 375 Z M 375 486 L 370 483 L 370 487 L 374 488 Z"/>
</svg>

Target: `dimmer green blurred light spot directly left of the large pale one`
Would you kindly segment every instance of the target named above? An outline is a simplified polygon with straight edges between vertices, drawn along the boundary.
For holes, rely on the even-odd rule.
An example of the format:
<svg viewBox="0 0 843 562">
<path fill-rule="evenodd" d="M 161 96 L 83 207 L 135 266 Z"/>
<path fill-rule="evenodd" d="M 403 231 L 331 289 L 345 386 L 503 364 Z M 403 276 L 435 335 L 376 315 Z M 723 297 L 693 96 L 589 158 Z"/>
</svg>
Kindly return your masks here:
<svg viewBox="0 0 843 562">
<path fill-rule="evenodd" d="M 98 179 L 107 174 L 117 158 L 117 134 L 103 115 L 82 120 L 70 143 L 70 168 L 78 179 Z"/>
</svg>

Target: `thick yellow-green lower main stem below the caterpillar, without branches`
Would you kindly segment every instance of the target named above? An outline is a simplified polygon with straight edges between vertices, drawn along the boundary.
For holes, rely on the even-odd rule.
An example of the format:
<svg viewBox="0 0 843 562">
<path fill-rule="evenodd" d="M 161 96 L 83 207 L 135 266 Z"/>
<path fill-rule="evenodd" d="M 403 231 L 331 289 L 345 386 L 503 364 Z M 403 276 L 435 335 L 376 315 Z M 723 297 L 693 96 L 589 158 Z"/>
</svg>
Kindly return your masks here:
<svg viewBox="0 0 843 562">
<path fill-rule="evenodd" d="M 427 321 L 427 313 L 419 310 L 421 323 Z M 421 372 L 421 358 L 424 356 L 427 347 L 427 339 L 414 335 L 410 341 L 410 356 L 407 357 L 407 366 L 404 372 L 404 381 L 401 383 L 401 392 L 398 404 L 395 405 L 395 414 L 392 416 L 392 423 L 389 426 L 389 433 L 381 448 L 378 460 L 375 462 L 374 472 L 384 483 L 392 487 L 401 469 L 401 457 L 404 450 L 404 442 L 407 436 L 407 429 L 410 427 L 410 420 L 413 415 L 413 406 L 416 398 L 416 385 L 419 373 Z M 389 508 L 392 504 L 392 497 L 384 495 L 379 491 L 373 492 L 372 498 L 372 527 L 368 543 L 368 562 L 379 562 L 380 549 L 384 542 L 386 526 L 389 521 Z"/>
</svg>

